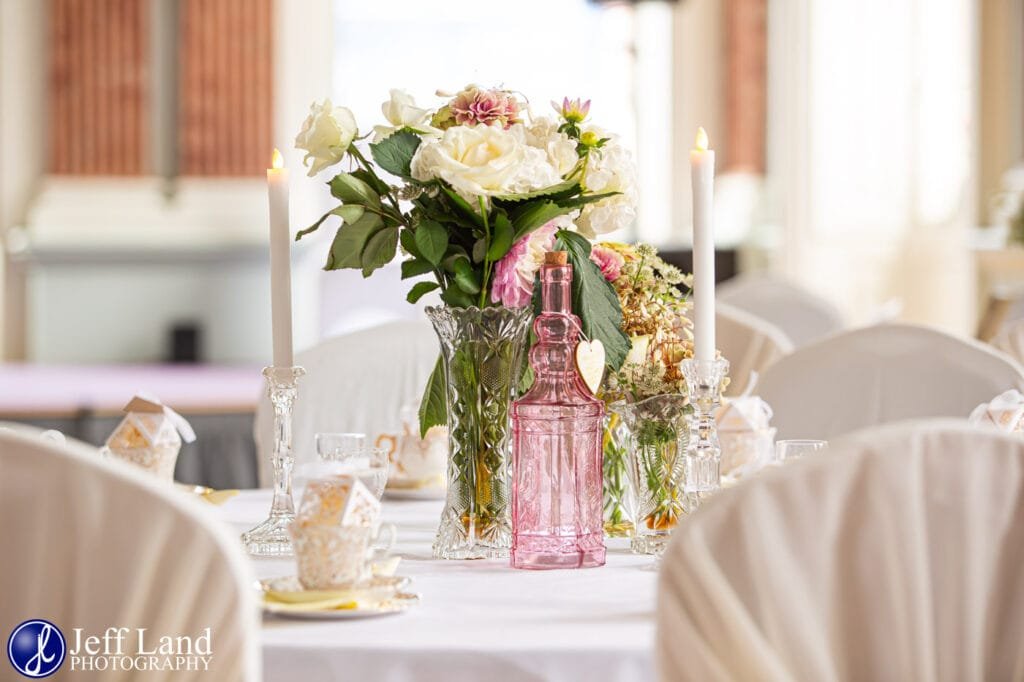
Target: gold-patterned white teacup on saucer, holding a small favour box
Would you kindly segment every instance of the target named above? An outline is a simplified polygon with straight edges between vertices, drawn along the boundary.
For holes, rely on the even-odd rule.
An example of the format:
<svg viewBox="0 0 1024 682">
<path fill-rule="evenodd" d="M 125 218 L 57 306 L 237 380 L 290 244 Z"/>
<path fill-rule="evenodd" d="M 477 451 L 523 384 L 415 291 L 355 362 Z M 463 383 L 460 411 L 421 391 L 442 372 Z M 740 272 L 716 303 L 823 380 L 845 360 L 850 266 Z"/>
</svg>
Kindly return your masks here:
<svg viewBox="0 0 1024 682">
<path fill-rule="evenodd" d="M 299 582 L 307 590 L 338 590 L 369 579 L 373 563 L 395 541 L 392 523 L 328 525 L 295 521 L 290 526 Z M 381 543 L 381 536 L 387 540 Z M 378 556 L 379 555 L 379 556 Z"/>
</svg>

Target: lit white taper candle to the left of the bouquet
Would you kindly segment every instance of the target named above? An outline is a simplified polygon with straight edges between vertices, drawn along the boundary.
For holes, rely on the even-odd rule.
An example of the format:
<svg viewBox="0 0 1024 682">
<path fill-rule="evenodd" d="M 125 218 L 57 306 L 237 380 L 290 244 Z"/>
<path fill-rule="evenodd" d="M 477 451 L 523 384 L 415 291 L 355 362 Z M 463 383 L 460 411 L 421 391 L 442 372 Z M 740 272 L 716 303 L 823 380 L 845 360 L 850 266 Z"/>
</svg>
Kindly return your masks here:
<svg viewBox="0 0 1024 682">
<path fill-rule="evenodd" d="M 273 326 L 273 366 L 292 367 L 292 230 L 288 218 L 288 169 L 281 152 L 266 170 L 270 200 L 270 318 Z"/>
</svg>

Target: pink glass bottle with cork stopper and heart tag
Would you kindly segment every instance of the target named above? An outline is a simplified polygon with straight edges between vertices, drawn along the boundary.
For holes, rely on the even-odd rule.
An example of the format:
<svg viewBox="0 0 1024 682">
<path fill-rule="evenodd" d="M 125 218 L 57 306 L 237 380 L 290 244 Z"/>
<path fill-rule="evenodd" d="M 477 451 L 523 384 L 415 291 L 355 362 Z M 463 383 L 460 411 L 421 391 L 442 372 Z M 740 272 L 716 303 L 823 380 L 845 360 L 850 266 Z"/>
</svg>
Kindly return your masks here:
<svg viewBox="0 0 1024 682">
<path fill-rule="evenodd" d="M 580 318 L 564 252 L 541 268 L 543 312 L 529 352 L 534 386 L 512 403 L 512 566 L 604 565 L 601 422 L 604 403 L 575 367 Z"/>
</svg>

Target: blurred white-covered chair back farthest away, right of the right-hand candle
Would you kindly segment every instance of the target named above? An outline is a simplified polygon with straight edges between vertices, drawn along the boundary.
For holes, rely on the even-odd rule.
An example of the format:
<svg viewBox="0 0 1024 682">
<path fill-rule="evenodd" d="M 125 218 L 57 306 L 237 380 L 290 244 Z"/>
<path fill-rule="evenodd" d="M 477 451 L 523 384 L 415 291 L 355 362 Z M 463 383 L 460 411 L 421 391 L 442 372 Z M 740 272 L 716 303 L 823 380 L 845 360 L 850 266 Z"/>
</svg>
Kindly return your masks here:
<svg viewBox="0 0 1024 682">
<path fill-rule="evenodd" d="M 742 274 L 719 285 L 719 301 L 745 310 L 782 330 L 796 347 L 843 329 L 843 316 L 828 301 L 776 276 Z"/>
</svg>

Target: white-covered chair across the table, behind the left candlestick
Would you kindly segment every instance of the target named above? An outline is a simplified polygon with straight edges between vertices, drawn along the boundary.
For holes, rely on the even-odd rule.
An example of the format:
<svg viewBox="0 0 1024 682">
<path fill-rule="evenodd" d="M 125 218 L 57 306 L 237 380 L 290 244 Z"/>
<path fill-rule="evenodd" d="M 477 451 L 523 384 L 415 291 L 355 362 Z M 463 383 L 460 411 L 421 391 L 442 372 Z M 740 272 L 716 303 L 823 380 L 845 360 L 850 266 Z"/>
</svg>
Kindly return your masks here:
<svg viewBox="0 0 1024 682">
<path fill-rule="evenodd" d="M 401 408 L 419 406 L 439 353 L 427 319 L 395 322 L 321 342 L 295 358 L 306 370 L 299 380 L 292 437 L 295 463 L 316 461 L 314 436 L 400 432 Z M 273 410 L 266 397 L 256 410 L 260 482 L 270 485 Z"/>
</svg>

